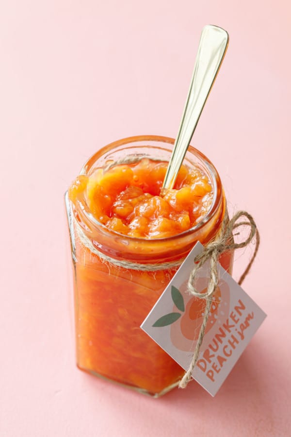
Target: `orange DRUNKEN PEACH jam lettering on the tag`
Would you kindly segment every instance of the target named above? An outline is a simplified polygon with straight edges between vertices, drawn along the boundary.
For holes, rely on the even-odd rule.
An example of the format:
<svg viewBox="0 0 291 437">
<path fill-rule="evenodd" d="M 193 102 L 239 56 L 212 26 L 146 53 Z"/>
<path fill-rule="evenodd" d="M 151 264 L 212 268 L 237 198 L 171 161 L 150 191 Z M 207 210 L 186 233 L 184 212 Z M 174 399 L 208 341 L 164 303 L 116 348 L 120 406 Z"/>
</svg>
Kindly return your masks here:
<svg viewBox="0 0 291 437">
<path fill-rule="evenodd" d="M 215 375 L 220 372 L 227 358 L 232 355 L 238 344 L 244 339 L 244 331 L 250 326 L 254 313 L 243 314 L 245 305 L 239 299 L 228 319 L 219 328 L 211 343 L 203 352 L 196 366 L 206 373 L 210 381 L 215 382 Z"/>
</svg>

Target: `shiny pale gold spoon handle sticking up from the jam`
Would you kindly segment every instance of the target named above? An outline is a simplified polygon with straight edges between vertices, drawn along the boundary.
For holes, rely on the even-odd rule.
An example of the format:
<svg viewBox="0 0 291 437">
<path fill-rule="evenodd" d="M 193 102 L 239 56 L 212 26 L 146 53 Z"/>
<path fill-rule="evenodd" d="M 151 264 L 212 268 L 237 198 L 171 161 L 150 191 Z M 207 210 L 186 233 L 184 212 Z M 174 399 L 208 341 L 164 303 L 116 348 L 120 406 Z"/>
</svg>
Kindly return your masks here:
<svg viewBox="0 0 291 437">
<path fill-rule="evenodd" d="M 200 114 L 222 64 L 227 45 L 228 34 L 224 29 L 211 25 L 203 28 L 190 90 L 163 181 L 163 188 L 173 188 L 175 184 Z"/>
</svg>

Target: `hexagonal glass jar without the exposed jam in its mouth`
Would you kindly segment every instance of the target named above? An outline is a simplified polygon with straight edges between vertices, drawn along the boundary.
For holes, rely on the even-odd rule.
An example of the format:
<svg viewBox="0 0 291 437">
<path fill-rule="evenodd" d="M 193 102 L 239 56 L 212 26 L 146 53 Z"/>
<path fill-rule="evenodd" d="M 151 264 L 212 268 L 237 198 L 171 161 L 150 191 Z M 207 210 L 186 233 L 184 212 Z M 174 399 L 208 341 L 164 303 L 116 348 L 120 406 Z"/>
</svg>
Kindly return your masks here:
<svg viewBox="0 0 291 437">
<path fill-rule="evenodd" d="M 126 157 L 168 161 L 174 139 L 144 135 L 116 141 L 97 151 L 81 169 L 90 175 Z M 210 210 L 190 230 L 168 238 L 144 239 L 106 228 L 90 213 L 84 197 L 66 193 L 74 265 L 77 366 L 154 397 L 178 385 L 184 370 L 140 325 L 196 241 L 207 244 L 219 231 L 226 201 L 216 169 L 189 147 L 184 164 L 208 176 Z M 220 258 L 231 273 L 233 252 Z M 186 278 L 185 278 L 186 279 Z"/>
</svg>

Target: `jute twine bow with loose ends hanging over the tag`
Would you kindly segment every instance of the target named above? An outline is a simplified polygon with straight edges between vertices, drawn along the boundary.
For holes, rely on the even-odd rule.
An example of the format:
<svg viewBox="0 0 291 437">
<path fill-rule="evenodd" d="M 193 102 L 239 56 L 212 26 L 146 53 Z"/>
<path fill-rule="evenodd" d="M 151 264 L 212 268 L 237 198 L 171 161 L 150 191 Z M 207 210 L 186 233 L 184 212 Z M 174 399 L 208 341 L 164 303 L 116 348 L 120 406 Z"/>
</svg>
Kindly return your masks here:
<svg viewBox="0 0 291 437">
<path fill-rule="evenodd" d="M 237 222 L 237 220 L 241 217 L 247 218 L 247 221 Z M 245 241 L 242 241 L 241 243 L 235 243 L 233 240 L 233 236 L 239 235 L 239 233 L 233 235 L 233 231 L 240 226 L 249 226 L 250 234 Z M 249 272 L 249 270 L 254 262 L 254 259 L 256 258 L 258 249 L 259 249 L 259 231 L 257 229 L 257 226 L 256 226 L 254 219 L 246 211 L 237 212 L 233 216 L 233 218 L 231 218 L 231 220 L 228 220 L 228 217 L 226 214 L 219 234 L 216 236 L 216 238 L 214 240 L 212 240 L 204 248 L 203 252 L 201 252 L 199 255 L 197 255 L 194 259 L 194 262 L 197 264 L 195 264 L 195 267 L 190 274 L 190 278 L 188 281 L 188 289 L 193 296 L 196 296 L 199 299 L 206 300 L 206 308 L 204 310 L 204 317 L 203 317 L 202 325 L 200 328 L 198 340 L 197 340 L 197 343 L 195 346 L 194 355 L 192 357 L 192 360 L 191 360 L 191 363 L 189 365 L 188 370 L 185 372 L 184 376 L 182 377 L 182 379 L 179 382 L 180 388 L 185 388 L 187 386 L 187 384 L 189 383 L 189 381 L 191 381 L 192 372 L 193 372 L 194 367 L 196 365 L 196 362 L 198 360 L 200 347 L 201 347 L 202 342 L 203 342 L 205 328 L 206 328 L 207 321 L 208 321 L 209 314 L 210 314 L 213 293 L 215 292 L 215 290 L 218 286 L 218 282 L 219 282 L 218 274 L 217 274 L 217 262 L 218 262 L 219 255 L 222 254 L 223 252 L 226 252 L 226 251 L 241 249 L 241 248 L 247 246 L 252 241 L 254 236 L 256 236 L 255 251 L 254 251 L 254 254 L 253 254 L 251 260 L 249 261 L 246 269 L 242 273 L 242 276 L 238 282 L 238 284 L 241 285 L 242 281 L 244 280 L 244 278 L 248 274 L 248 272 Z M 194 280 L 195 280 L 195 277 L 196 277 L 198 270 L 208 260 L 210 261 L 210 280 L 209 280 L 208 288 L 207 288 L 207 291 L 205 293 L 199 293 L 193 285 Z"/>
</svg>

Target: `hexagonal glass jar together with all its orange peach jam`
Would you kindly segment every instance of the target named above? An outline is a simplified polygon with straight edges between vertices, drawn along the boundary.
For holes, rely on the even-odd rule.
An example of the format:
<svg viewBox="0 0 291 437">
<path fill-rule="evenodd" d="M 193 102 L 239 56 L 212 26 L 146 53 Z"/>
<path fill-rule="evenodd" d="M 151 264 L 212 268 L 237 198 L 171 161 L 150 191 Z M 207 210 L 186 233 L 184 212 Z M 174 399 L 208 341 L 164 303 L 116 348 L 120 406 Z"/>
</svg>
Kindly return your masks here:
<svg viewBox="0 0 291 437">
<path fill-rule="evenodd" d="M 77 365 L 151 396 L 177 386 L 184 371 L 140 325 L 196 241 L 210 241 L 226 214 L 216 169 L 192 147 L 174 188 L 162 189 L 173 143 L 140 136 L 106 146 L 66 195 Z M 220 258 L 229 272 L 232 256 Z"/>
</svg>

